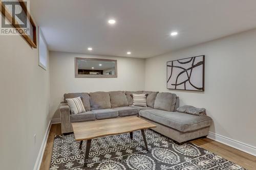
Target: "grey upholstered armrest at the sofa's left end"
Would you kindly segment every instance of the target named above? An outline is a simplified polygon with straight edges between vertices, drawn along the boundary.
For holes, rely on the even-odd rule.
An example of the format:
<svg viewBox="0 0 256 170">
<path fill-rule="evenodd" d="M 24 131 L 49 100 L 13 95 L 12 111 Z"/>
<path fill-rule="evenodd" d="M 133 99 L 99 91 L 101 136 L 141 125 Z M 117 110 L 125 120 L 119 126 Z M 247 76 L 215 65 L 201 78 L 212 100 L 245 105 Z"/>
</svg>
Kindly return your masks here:
<svg viewBox="0 0 256 170">
<path fill-rule="evenodd" d="M 65 102 L 60 103 L 60 121 L 61 121 L 61 133 L 73 132 L 73 128 L 70 122 L 70 108 Z"/>
</svg>

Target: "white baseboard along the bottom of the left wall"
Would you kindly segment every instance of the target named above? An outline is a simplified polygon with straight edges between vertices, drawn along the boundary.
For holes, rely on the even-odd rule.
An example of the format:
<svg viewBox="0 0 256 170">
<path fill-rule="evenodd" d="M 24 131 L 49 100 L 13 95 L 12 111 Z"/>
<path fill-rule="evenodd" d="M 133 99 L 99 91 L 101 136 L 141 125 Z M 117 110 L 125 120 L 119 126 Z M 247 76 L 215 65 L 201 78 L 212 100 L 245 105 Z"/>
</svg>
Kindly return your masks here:
<svg viewBox="0 0 256 170">
<path fill-rule="evenodd" d="M 51 120 L 48 124 L 48 127 L 47 127 L 47 130 L 46 130 L 46 133 L 45 133 L 45 136 L 44 136 L 44 139 L 42 140 L 42 144 L 41 144 L 41 148 L 39 150 L 39 153 L 38 153 L 38 156 L 36 158 L 36 162 L 35 162 L 35 165 L 34 165 L 34 170 L 39 170 L 40 169 L 40 165 L 41 165 L 41 162 L 42 162 L 42 156 L 44 155 L 44 152 L 45 152 L 45 148 L 46 148 L 46 143 L 47 143 L 47 139 L 48 139 L 48 136 L 49 136 L 49 132 L 50 132 L 50 129 L 51 129 Z"/>
</svg>

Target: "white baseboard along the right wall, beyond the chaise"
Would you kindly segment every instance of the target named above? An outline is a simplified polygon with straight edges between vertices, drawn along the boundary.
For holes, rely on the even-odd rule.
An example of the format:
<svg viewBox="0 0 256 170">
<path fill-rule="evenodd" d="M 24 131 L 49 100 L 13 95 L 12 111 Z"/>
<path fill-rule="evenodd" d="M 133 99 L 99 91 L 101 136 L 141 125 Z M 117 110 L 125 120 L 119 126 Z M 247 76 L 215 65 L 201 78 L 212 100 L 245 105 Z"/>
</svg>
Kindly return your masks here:
<svg viewBox="0 0 256 170">
<path fill-rule="evenodd" d="M 216 133 L 209 132 L 208 138 L 212 140 L 216 140 L 218 142 L 224 143 L 228 145 L 229 147 L 236 148 L 240 151 L 246 152 L 248 154 L 251 154 L 253 156 L 256 156 L 256 147 L 253 147 L 252 145 L 230 139 L 228 137 L 218 135 Z"/>
</svg>

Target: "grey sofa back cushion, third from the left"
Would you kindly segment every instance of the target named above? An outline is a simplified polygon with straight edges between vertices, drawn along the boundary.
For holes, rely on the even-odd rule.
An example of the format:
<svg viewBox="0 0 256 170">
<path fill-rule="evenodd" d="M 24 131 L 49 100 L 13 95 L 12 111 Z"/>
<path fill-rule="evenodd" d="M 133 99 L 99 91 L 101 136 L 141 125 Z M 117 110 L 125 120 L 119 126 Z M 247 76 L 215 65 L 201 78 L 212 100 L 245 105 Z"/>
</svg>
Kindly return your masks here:
<svg viewBox="0 0 256 170">
<path fill-rule="evenodd" d="M 124 91 L 110 91 L 111 107 L 124 107 L 129 106 Z"/>
</svg>

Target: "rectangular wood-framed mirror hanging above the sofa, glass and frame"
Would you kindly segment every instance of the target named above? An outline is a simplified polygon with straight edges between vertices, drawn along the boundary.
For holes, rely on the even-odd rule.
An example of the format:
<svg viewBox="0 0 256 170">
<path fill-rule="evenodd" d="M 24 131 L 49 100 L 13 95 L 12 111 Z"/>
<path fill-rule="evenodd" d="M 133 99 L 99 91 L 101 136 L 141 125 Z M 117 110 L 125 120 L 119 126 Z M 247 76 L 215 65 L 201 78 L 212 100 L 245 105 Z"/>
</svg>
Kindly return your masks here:
<svg viewBox="0 0 256 170">
<path fill-rule="evenodd" d="M 117 78 L 117 60 L 75 58 L 76 78 Z"/>
</svg>

